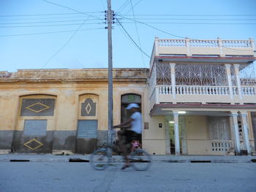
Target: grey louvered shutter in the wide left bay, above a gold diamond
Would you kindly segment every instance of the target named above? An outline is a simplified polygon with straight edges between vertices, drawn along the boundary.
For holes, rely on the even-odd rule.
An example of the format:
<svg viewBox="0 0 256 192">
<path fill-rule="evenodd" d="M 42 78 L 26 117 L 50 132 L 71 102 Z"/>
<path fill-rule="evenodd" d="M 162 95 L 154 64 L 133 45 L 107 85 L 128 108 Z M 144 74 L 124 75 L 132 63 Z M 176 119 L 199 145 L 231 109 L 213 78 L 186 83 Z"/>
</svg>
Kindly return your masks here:
<svg viewBox="0 0 256 192">
<path fill-rule="evenodd" d="M 24 136 L 45 136 L 47 132 L 47 120 L 25 120 Z"/>
</svg>

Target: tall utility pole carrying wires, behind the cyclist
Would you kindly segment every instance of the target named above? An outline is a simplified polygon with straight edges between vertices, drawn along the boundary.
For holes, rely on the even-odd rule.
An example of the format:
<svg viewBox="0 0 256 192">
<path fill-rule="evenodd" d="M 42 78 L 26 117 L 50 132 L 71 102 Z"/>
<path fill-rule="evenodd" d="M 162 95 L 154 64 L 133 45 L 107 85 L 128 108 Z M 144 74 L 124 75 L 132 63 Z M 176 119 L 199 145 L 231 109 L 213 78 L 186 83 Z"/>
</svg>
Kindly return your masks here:
<svg viewBox="0 0 256 192">
<path fill-rule="evenodd" d="M 108 0 L 108 145 L 112 143 L 113 128 L 112 13 L 111 0 Z"/>
</svg>

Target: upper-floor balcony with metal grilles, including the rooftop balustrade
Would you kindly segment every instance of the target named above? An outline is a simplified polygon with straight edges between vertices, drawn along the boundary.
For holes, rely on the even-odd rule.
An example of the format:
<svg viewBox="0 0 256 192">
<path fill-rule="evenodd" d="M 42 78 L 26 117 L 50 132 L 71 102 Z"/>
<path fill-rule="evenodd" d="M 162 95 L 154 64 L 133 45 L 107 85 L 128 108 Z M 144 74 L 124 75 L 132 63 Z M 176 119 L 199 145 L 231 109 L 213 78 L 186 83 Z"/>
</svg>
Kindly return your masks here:
<svg viewBox="0 0 256 192">
<path fill-rule="evenodd" d="M 155 104 L 256 104 L 255 45 L 249 40 L 155 39 Z"/>
</svg>

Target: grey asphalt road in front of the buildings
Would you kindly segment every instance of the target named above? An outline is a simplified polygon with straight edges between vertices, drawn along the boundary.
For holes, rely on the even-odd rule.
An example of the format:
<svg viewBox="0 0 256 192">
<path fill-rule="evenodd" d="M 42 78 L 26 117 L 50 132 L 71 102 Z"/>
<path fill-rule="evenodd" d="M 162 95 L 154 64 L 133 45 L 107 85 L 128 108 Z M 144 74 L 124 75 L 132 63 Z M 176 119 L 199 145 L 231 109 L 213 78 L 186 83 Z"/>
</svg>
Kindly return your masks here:
<svg viewBox="0 0 256 192">
<path fill-rule="evenodd" d="M 89 163 L 0 162 L 0 191 L 256 191 L 255 163 L 154 163 L 146 172 L 120 168 L 117 164 L 95 171 Z"/>
</svg>

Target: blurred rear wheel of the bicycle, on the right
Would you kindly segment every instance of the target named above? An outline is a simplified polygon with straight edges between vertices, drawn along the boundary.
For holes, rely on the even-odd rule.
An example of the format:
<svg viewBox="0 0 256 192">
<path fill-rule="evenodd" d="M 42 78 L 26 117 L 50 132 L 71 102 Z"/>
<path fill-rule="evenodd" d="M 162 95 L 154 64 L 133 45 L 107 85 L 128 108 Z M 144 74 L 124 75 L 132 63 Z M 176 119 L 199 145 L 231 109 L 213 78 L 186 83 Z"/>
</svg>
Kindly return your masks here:
<svg viewBox="0 0 256 192">
<path fill-rule="evenodd" d="M 130 155 L 130 162 L 137 171 L 146 171 L 151 166 L 151 156 L 145 150 L 135 150 Z"/>
</svg>

